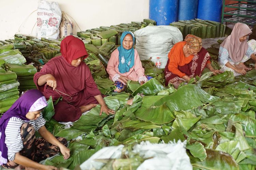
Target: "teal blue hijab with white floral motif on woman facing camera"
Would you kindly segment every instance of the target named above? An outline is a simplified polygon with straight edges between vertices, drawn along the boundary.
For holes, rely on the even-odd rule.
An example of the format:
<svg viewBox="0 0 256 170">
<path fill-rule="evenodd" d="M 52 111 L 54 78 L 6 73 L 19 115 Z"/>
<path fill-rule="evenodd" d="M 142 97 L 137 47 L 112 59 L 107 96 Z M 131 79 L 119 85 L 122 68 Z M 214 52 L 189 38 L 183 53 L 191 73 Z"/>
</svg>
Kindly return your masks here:
<svg viewBox="0 0 256 170">
<path fill-rule="evenodd" d="M 127 34 L 131 34 L 132 40 L 133 40 L 133 46 L 131 49 L 126 50 L 123 47 L 123 40 Z M 120 73 L 126 73 L 128 72 L 134 65 L 134 44 L 135 44 L 135 37 L 134 34 L 130 31 L 123 32 L 121 38 L 120 38 L 121 46 L 118 47 L 119 51 L 119 65 L 118 65 L 118 71 Z"/>
</svg>

